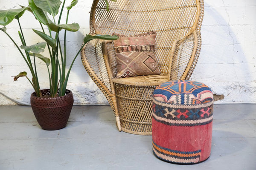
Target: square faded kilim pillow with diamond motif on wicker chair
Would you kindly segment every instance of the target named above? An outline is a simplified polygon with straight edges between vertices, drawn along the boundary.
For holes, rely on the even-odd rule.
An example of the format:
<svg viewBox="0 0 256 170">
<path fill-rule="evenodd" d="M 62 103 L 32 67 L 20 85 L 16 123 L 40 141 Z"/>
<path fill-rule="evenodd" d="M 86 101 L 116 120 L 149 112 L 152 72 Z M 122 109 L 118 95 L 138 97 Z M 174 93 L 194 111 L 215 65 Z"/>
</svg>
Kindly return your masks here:
<svg viewBox="0 0 256 170">
<path fill-rule="evenodd" d="M 114 41 L 116 78 L 160 74 L 155 56 L 155 31 L 132 37 L 115 35 L 119 37 Z"/>
</svg>

